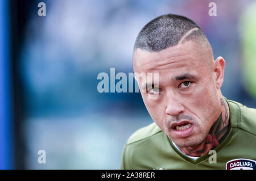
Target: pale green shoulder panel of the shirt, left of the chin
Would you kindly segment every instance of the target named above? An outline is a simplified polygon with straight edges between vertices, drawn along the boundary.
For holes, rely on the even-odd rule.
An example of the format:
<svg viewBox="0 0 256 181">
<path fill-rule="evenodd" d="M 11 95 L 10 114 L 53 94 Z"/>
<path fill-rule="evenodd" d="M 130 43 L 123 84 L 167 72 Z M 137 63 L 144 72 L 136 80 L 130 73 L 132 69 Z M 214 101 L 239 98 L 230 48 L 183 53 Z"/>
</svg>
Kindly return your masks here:
<svg viewBox="0 0 256 181">
<path fill-rule="evenodd" d="M 158 125 L 156 125 L 155 123 L 151 123 L 150 125 L 147 125 L 146 127 L 138 129 L 133 134 L 131 134 L 131 136 L 126 142 L 126 145 L 130 145 L 138 141 L 146 140 L 147 138 L 150 138 L 160 132 L 162 132 L 162 129 L 160 129 Z"/>
</svg>

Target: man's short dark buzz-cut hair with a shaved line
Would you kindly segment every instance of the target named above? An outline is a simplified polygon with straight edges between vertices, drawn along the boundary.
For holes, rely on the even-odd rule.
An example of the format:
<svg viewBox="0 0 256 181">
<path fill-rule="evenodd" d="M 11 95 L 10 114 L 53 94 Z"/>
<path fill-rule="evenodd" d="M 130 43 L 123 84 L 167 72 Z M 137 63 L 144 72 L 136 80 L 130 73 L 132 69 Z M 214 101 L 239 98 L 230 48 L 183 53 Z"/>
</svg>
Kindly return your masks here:
<svg viewBox="0 0 256 181">
<path fill-rule="evenodd" d="M 139 48 L 148 52 L 159 52 L 189 40 L 204 40 L 209 44 L 204 32 L 193 20 L 167 14 L 158 16 L 142 28 L 135 41 L 134 51 Z"/>
</svg>

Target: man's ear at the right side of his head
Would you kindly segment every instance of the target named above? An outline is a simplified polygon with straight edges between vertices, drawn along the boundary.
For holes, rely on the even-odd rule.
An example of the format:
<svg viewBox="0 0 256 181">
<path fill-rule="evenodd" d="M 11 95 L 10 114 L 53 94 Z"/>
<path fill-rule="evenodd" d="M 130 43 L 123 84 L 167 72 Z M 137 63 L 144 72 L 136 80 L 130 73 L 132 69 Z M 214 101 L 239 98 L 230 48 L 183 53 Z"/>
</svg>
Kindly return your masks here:
<svg viewBox="0 0 256 181">
<path fill-rule="evenodd" d="M 222 57 L 216 58 L 216 60 L 213 62 L 213 72 L 215 75 L 214 78 L 217 89 L 220 89 L 223 83 L 225 64 L 225 60 Z"/>
</svg>

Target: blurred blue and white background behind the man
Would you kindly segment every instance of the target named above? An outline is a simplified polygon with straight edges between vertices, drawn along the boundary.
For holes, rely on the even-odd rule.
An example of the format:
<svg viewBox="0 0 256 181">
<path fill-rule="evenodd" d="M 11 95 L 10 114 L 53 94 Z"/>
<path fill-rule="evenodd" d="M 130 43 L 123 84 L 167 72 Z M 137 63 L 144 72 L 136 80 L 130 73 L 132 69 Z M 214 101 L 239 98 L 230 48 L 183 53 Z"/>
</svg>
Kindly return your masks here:
<svg viewBox="0 0 256 181">
<path fill-rule="evenodd" d="M 138 32 L 168 13 L 194 20 L 224 57 L 223 95 L 256 108 L 255 1 L 0 0 L 0 169 L 119 169 L 152 119 L 140 93 L 99 93 L 97 75 L 133 72 Z"/>
</svg>

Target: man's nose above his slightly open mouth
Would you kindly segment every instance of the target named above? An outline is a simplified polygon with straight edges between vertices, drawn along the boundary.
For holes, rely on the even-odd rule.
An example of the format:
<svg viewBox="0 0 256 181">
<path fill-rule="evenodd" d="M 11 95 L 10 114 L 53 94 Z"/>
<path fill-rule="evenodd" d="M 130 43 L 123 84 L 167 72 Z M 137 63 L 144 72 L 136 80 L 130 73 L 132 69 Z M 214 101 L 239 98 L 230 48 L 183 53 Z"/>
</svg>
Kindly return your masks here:
<svg viewBox="0 0 256 181">
<path fill-rule="evenodd" d="M 166 96 L 166 113 L 170 116 L 177 116 L 179 113 L 185 111 L 184 106 L 181 104 L 180 96 L 174 95 L 172 92 L 168 92 Z"/>
</svg>

